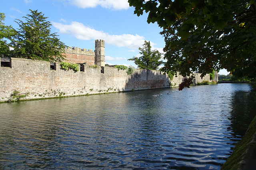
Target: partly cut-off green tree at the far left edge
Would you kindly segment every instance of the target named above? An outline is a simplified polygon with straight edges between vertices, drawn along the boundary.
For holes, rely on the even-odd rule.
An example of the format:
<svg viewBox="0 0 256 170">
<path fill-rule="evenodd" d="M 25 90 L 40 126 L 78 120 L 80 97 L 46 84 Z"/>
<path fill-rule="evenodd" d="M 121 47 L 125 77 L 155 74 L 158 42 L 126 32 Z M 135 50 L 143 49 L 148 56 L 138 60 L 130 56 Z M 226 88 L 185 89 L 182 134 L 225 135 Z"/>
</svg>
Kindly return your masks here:
<svg viewBox="0 0 256 170">
<path fill-rule="evenodd" d="M 11 45 L 7 40 L 11 40 L 16 33 L 12 26 L 6 26 L 4 24 L 4 18 L 4 13 L 0 13 L 0 57 L 8 56 L 10 54 L 9 47 L 11 47 Z"/>
</svg>

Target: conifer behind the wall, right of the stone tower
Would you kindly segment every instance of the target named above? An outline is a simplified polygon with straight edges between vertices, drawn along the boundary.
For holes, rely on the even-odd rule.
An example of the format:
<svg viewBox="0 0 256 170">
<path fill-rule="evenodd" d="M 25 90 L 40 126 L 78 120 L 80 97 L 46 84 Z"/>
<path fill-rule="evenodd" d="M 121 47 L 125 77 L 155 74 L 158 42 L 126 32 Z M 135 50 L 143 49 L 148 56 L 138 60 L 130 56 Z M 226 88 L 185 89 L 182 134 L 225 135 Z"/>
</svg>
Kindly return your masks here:
<svg viewBox="0 0 256 170">
<path fill-rule="evenodd" d="M 160 61 L 161 53 L 158 50 L 151 50 L 150 41 L 144 41 L 143 47 L 139 47 L 140 57 L 133 57 L 128 59 L 134 61 L 134 63 L 141 69 L 157 70 L 158 67 L 163 63 Z"/>
</svg>

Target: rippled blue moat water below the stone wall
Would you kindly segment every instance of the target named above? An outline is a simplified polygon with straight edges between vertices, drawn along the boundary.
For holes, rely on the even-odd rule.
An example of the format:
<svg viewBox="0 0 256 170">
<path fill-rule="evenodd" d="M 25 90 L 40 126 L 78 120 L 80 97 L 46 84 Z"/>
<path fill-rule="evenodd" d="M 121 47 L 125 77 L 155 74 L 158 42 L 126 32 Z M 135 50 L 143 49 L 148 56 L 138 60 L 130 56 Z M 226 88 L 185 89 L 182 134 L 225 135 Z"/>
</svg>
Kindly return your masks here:
<svg viewBox="0 0 256 170">
<path fill-rule="evenodd" d="M 220 169 L 256 115 L 250 85 L 176 90 L 2 103 L 0 169 Z"/>
</svg>

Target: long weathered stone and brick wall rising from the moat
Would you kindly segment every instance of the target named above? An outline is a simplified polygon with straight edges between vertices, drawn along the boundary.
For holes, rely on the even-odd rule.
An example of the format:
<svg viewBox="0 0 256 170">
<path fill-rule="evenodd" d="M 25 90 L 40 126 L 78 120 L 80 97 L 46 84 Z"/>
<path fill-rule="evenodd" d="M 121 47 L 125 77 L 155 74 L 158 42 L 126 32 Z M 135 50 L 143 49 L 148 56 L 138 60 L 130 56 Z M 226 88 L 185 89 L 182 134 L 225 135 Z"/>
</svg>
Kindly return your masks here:
<svg viewBox="0 0 256 170">
<path fill-rule="evenodd" d="M 10 101 L 15 96 L 20 100 L 52 98 L 60 96 L 80 96 L 154 88 L 178 86 L 182 76 L 172 81 L 167 74 L 156 70 L 134 69 L 128 75 L 126 70 L 114 67 L 93 68 L 89 64 L 80 64 L 78 72 L 63 70 L 60 63 L 54 68 L 46 61 L 11 58 L 10 66 L 0 67 L 0 102 Z M 203 80 L 210 82 L 210 76 Z M 201 78 L 196 78 L 202 82 Z"/>
</svg>

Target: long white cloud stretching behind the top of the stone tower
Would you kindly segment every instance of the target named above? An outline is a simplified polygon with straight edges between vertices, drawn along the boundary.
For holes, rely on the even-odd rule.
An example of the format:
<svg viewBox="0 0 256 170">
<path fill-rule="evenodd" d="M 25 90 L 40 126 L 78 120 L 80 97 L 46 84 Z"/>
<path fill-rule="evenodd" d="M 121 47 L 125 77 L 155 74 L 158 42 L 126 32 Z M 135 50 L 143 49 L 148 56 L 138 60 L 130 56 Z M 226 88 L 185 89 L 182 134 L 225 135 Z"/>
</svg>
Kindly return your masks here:
<svg viewBox="0 0 256 170">
<path fill-rule="evenodd" d="M 110 35 L 104 31 L 97 31 L 80 22 L 73 21 L 70 25 L 52 22 L 59 29 L 60 34 L 69 34 L 80 40 L 104 39 L 106 44 L 128 49 L 138 49 L 144 43 L 144 37 L 140 35 L 122 34 Z"/>
</svg>

